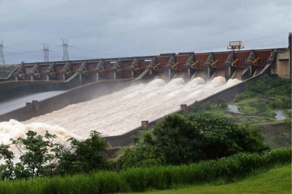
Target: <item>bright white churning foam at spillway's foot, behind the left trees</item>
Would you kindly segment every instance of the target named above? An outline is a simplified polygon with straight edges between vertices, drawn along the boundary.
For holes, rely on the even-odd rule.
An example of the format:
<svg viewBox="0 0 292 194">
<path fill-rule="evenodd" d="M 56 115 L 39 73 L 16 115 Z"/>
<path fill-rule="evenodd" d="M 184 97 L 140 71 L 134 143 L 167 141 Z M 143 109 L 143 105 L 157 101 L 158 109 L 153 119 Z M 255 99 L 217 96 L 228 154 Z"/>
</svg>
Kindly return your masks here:
<svg viewBox="0 0 292 194">
<path fill-rule="evenodd" d="M 0 141 L 2 144 L 11 144 L 10 139 L 17 139 L 18 137 L 25 138 L 25 132 L 28 130 L 36 131 L 37 134 L 45 135 L 46 131 L 57 135 L 54 142 L 65 144 L 69 137 L 80 139 L 81 137 L 71 133 L 70 131 L 61 128 L 57 125 L 48 125 L 45 123 L 31 123 L 23 124 L 17 120 L 10 119 L 8 122 L 0 122 Z M 11 151 L 15 153 L 15 162 L 18 162 L 20 156 L 19 150 L 16 146 L 11 146 Z"/>
</svg>

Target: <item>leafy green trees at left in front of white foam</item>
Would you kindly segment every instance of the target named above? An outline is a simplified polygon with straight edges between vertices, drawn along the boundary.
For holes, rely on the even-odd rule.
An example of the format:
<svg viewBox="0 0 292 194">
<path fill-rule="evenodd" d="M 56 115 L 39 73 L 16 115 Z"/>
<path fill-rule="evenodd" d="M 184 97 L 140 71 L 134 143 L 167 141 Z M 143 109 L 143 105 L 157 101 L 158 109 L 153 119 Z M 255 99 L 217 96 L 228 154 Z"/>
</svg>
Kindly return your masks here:
<svg viewBox="0 0 292 194">
<path fill-rule="evenodd" d="M 0 164 L 1 179 L 89 173 L 109 168 L 109 163 L 100 154 L 107 143 L 96 131 L 92 131 L 86 140 L 68 139 L 70 147 L 54 143 L 56 136 L 48 132 L 41 136 L 29 130 L 26 136 L 11 139 L 12 145 L 21 153 L 20 162 L 16 164 L 10 145 L 0 145 L 0 159 L 4 160 Z"/>
</svg>

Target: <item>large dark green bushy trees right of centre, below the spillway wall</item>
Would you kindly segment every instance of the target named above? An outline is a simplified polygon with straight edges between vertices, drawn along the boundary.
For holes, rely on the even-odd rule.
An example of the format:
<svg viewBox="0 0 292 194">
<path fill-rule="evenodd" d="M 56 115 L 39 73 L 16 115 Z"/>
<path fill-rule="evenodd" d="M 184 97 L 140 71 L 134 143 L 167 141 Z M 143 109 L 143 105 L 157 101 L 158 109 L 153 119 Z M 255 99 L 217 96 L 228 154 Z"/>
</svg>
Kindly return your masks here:
<svg viewBox="0 0 292 194">
<path fill-rule="evenodd" d="M 266 149 L 260 130 L 249 125 L 207 114 L 171 114 L 158 122 L 153 135 L 144 135 L 141 145 L 128 149 L 118 164 L 120 168 L 179 165 Z"/>
</svg>

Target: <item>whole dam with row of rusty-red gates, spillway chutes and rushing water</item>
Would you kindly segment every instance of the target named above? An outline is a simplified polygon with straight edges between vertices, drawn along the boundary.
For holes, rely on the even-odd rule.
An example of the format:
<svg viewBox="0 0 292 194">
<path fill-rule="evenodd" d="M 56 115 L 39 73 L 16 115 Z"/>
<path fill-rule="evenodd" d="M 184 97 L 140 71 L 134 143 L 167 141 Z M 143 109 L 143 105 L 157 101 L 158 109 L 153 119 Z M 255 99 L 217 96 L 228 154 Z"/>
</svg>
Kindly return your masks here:
<svg viewBox="0 0 292 194">
<path fill-rule="evenodd" d="M 291 77 L 290 47 L 3 66 L 0 107 L 9 110 L 1 110 L 0 126 L 80 139 L 97 130 L 112 146 L 125 145 L 141 124 L 187 112 L 195 101 L 233 99 L 264 74 Z"/>
</svg>

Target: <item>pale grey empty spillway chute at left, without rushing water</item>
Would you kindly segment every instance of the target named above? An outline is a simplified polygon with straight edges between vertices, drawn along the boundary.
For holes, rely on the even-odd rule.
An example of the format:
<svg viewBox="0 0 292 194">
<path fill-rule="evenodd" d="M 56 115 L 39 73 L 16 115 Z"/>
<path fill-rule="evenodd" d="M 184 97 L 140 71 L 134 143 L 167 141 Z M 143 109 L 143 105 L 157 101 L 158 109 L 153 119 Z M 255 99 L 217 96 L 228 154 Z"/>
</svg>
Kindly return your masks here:
<svg viewBox="0 0 292 194">
<path fill-rule="evenodd" d="M 49 97 L 54 97 L 56 95 L 62 94 L 66 91 L 50 91 L 50 92 L 40 92 L 36 94 L 26 95 L 19 98 L 14 98 L 0 103 L 0 114 L 8 113 L 10 111 L 22 108 L 25 106 L 26 102 L 31 102 L 32 100 L 44 100 Z"/>
</svg>

